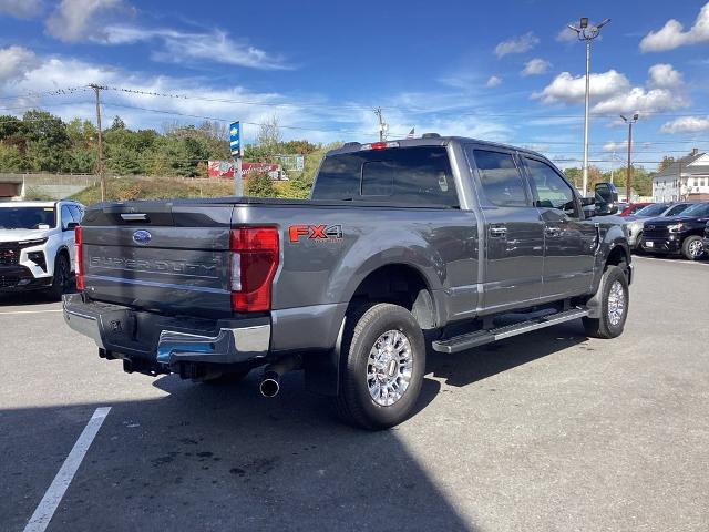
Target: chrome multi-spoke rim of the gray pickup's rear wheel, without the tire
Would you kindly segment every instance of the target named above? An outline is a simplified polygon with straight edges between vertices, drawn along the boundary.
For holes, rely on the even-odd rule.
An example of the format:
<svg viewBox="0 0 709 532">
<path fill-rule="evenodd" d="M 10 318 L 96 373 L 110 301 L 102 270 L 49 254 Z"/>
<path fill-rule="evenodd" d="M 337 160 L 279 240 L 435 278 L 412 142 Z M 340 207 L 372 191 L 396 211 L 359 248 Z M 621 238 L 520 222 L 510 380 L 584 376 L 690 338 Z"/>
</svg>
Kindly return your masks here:
<svg viewBox="0 0 709 532">
<path fill-rule="evenodd" d="M 367 386 L 372 400 L 389 407 L 400 400 L 413 370 L 409 338 L 400 330 L 388 330 L 374 341 L 367 359 Z"/>
</svg>

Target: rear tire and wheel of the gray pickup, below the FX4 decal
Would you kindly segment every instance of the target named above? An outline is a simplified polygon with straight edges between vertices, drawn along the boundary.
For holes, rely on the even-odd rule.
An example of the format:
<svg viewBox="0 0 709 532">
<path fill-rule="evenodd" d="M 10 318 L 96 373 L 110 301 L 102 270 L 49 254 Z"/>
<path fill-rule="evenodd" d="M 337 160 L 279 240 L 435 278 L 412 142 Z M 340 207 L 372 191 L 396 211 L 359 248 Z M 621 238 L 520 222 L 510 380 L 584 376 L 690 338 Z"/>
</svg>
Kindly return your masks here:
<svg viewBox="0 0 709 532">
<path fill-rule="evenodd" d="M 425 342 L 409 310 L 398 305 L 364 306 L 348 316 L 342 341 L 340 417 L 381 430 L 411 416 L 425 372 Z"/>
</svg>

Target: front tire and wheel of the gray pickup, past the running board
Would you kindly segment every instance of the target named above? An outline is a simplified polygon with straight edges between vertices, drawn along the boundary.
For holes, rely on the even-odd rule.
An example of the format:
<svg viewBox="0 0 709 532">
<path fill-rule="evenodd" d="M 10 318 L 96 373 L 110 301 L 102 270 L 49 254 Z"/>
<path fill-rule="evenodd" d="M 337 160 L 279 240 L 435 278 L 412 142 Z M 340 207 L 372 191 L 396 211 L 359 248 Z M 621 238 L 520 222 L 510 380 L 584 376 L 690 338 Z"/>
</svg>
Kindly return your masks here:
<svg viewBox="0 0 709 532">
<path fill-rule="evenodd" d="M 628 279 L 619 266 L 609 266 L 600 278 L 595 297 L 599 299 L 598 318 L 584 318 L 590 338 L 616 338 L 623 334 L 630 304 Z"/>
</svg>

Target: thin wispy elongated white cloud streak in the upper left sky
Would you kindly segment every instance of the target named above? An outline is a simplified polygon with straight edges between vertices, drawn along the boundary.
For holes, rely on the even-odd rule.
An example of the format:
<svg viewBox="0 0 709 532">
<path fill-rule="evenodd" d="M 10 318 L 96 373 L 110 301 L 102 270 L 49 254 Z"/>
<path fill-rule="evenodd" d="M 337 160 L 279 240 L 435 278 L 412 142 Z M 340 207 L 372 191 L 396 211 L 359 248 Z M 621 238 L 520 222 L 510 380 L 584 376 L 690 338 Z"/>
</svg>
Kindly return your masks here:
<svg viewBox="0 0 709 532">
<path fill-rule="evenodd" d="M 237 42 L 220 30 L 214 30 L 209 33 L 191 33 L 167 28 L 145 29 L 132 25 L 109 25 L 97 40 L 105 44 L 158 41 L 163 48 L 154 50 L 151 57 L 154 61 L 166 63 L 214 61 L 263 70 L 291 68 L 281 58 L 271 55 L 246 42 Z"/>
</svg>

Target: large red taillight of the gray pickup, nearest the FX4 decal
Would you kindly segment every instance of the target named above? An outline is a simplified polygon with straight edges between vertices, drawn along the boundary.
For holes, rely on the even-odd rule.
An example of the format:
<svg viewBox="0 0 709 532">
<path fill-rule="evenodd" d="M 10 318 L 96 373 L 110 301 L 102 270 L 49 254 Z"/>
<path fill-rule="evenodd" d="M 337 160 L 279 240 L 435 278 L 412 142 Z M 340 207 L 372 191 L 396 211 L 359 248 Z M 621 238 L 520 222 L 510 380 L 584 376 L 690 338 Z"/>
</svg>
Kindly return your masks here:
<svg viewBox="0 0 709 532">
<path fill-rule="evenodd" d="M 278 268 L 278 229 L 232 229 L 232 309 L 255 313 L 270 309 L 270 285 Z"/>
</svg>

